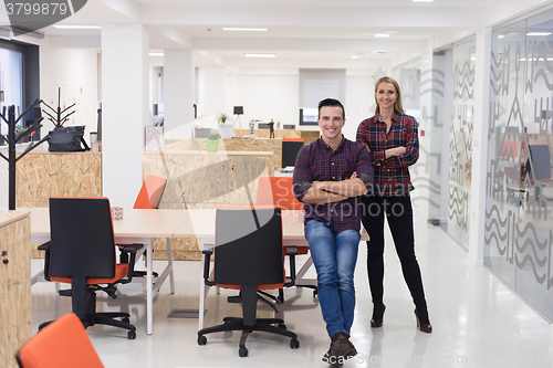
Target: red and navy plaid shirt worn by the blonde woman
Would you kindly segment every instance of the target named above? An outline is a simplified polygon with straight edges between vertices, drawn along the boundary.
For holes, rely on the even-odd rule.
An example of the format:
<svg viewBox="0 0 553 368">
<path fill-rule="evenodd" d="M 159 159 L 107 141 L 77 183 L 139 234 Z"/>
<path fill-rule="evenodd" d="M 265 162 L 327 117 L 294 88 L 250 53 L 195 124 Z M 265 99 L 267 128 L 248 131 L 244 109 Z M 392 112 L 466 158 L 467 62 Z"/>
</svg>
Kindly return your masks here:
<svg viewBox="0 0 553 368">
<path fill-rule="evenodd" d="M 371 150 L 375 196 L 398 197 L 415 189 L 407 168 L 418 160 L 418 124 L 413 116 L 394 113 L 392 127 L 386 134 L 386 123 L 380 122 L 376 114 L 359 124 L 356 140 Z M 399 146 L 406 147 L 407 151 L 386 159 L 384 151 Z"/>
</svg>

